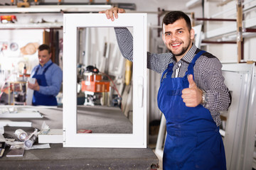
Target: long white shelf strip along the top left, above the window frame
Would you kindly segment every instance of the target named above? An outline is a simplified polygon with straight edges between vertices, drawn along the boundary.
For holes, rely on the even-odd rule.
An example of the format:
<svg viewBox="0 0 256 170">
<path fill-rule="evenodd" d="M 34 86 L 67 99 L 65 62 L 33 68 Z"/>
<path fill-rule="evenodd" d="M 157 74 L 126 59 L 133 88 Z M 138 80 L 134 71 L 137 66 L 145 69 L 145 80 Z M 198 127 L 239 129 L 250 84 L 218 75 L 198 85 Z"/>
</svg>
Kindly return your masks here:
<svg viewBox="0 0 256 170">
<path fill-rule="evenodd" d="M 0 6 L 0 13 L 60 13 L 60 12 L 98 12 L 112 8 L 111 5 L 59 5 L 59 6 L 30 6 L 18 8 L 17 6 Z"/>
</svg>

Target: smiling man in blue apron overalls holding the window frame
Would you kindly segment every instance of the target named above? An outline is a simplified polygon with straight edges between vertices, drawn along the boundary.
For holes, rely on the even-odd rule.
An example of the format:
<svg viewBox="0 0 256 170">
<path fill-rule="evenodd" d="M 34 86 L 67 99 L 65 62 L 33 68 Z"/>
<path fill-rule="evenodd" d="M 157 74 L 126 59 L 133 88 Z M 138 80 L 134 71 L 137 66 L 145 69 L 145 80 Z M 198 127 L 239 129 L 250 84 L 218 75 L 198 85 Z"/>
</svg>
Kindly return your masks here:
<svg viewBox="0 0 256 170">
<path fill-rule="evenodd" d="M 124 9 L 105 13 L 114 21 Z M 132 61 L 132 35 L 114 28 L 122 55 Z M 147 67 L 162 74 L 158 106 L 166 118 L 164 169 L 226 169 L 219 111 L 231 96 L 224 84 L 220 61 L 193 44 L 190 18 L 181 11 L 167 13 L 162 39 L 168 53 L 147 53 Z M 134 73 L 136 74 L 136 73 Z"/>
</svg>

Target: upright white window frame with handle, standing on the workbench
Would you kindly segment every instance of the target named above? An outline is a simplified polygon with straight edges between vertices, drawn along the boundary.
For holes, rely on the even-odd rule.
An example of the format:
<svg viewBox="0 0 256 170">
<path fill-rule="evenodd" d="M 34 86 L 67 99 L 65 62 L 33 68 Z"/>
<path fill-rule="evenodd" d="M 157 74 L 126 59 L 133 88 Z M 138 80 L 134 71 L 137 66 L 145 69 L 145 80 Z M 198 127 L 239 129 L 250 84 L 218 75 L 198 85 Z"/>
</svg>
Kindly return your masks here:
<svg viewBox="0 0 256 170">
<path fill-rule="evenodd" d="M 146 13 L 63 15 L 63 147 L 146 148 Z M 133 28 L 133 124 L 131 134 L 77 133 L 77 30 L 87 27 Z"/>
</svg>

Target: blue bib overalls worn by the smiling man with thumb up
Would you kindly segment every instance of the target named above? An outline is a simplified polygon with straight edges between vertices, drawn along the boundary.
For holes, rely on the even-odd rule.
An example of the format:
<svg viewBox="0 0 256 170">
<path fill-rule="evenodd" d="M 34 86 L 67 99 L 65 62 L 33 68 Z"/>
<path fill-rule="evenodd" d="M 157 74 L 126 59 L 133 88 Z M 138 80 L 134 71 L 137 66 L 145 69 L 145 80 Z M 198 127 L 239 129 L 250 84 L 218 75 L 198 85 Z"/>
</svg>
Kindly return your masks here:
<svg viewBox="0 0 256 170">
<path fill-rule="evenodd" d="M 223 140 L 210 111 L 202 105 L 187 107 L 181 98 L 181 91 L 189 86 L 187 76 L 193 75 L 203 52 L 193 58 L 184 77 L 171 78 L 173 63 L 162 74 L 157 101 L 166 118 L 164 169 L 226 169 Z"/>
</svg>

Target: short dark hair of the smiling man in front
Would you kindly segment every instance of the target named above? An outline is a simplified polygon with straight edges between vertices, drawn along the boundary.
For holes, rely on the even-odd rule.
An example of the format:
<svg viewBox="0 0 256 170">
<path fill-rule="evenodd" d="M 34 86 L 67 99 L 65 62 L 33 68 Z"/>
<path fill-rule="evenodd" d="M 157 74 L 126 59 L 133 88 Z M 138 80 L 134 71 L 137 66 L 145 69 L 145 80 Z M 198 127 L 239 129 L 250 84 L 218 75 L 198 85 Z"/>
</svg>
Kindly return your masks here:
<svg viewBox="0 0 256 170">
<path fill-rule="evenodd" d="M 169 13 L 166 13 L 166 15 L 163 18 L 163 23 L 167 26 L 168 24 L 173 24 L 179 19 L 184 19 L 186 21 L 186 24 L 188 26 L 188 30 L 191 30 L 191 20 L 186 15 L 186 13 L 183 13 L 182 11 L 171 11 Z"/>
</svg>

